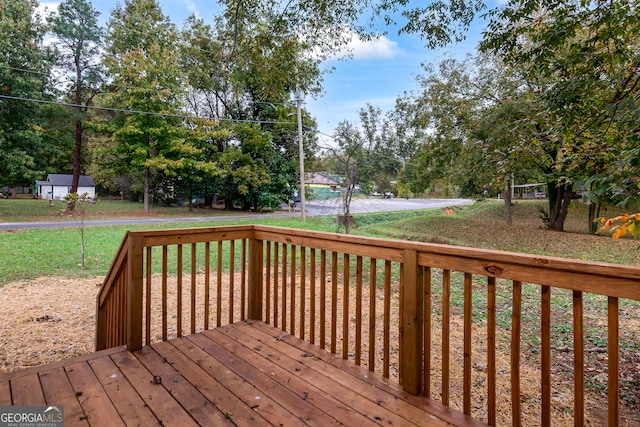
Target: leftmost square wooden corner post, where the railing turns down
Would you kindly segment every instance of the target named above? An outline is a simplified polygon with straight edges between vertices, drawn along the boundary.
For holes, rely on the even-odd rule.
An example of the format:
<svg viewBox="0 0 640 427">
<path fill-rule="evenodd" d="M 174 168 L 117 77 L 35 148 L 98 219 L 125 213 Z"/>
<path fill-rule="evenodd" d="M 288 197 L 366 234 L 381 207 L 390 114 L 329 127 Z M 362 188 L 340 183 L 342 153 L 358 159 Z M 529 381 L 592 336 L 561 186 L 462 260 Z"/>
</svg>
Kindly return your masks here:
<svg viewBox="0 0 640 427">
<path fill-rule="evenodd" d="M 142 348 L 142 288 L 143 245 L 142 237 L 130 236 L 127 262 L 127 349 Z"/>
</svg>

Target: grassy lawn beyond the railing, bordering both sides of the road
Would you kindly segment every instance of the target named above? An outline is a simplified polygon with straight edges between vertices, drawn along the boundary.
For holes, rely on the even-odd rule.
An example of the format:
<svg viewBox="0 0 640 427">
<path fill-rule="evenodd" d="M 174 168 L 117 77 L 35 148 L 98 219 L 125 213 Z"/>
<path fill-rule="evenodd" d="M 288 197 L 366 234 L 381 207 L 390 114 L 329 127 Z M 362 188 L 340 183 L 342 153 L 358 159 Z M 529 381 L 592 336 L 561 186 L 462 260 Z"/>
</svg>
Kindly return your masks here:
<svg viewBox="0 0 640 427">
<path fill-rule="evenodd" d="M 59 202 L 58 202 L 59 203 Z M 518 202 L 514 206 L 514 225 L 507 227 L 499 202 L 482 202 L 456 208 L 446 214 L 441 209 L 357 215 L 354 233 L 448 243 L 498 250 L 570 257 L 601 262 L 640 265 L 640 244 L 629 239 L 614 240 L 579 233 L 586 229 L 586 210 L 576 204 L 570 212 L 567 229 L 556 233 L 542 229 L 538 208 L 541 202 Z M 49 208 L 43 200 L 0 200 L 2 220 L 38 221 L 61 218 L 61 207 Z M 141 217 L 137 203 L 106 201 L 88 206 L 87 218 Z M 55 212 L 55 213 L 54 213 Z M 224 214 L 224 211 L 196 209 L 192 214 L 180 208 L 154 208 L 149 216 L 197 216 Z M 237 212 L 234 212 L 237 214 Z M 85 269 L 80 267 L 80 232 L 77 227 L 7 231 L 0 233 L 0 285 L 39 276 L 86 277 L 104 275 L 118 245 L 129 229 L 205 227 L 239 223 L 338 231 L 333 217 L 263 218 L 248 215 L 245 220 L 198 221 L 162 225 L 87 227 L 85 229 Z"/>
</svg>

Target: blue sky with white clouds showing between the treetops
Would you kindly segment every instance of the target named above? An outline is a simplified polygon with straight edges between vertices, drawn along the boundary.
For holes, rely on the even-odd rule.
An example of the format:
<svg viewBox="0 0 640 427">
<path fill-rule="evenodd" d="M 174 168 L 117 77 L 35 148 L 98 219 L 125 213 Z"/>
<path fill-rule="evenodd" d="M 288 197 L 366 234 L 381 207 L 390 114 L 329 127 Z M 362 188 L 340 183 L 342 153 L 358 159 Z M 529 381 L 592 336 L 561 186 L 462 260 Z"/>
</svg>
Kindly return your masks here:
<svg viewBox="0 0 640 427">
<path fill-rule="evenodd" d="M 93 0 L 91 2 L 104 22 L 111 10 L 122 0 Z M 208 21 L 219 10 L 215 0 L 160 0 L 165 15 L 180 28 L 192 13 Z M 56 8 L 58 2 L 41 2 Z M 331 134 L 340 121 L 358 124 L 358 112 L 367 103 L 383 111 L 393 109 L 395 99 L 405 91 L 416 89 L 415 77 L 422 72 L 422 63 L 438 63 L 446 57 L 463 57 L 472 53 L 480 39 L 478 28 L 467 41 L 437 51 L 428 50 L 417 37 L 399 36 L 390 32 L 386 37 L 368 43 L 355 41 L 353 58 L 331 60 L 325 66 L 334 71 L 325 75 L 324 91 L 317 98 L 305 99 L 307 111 L 318 123 L 318 129 Z"/>
</svg>

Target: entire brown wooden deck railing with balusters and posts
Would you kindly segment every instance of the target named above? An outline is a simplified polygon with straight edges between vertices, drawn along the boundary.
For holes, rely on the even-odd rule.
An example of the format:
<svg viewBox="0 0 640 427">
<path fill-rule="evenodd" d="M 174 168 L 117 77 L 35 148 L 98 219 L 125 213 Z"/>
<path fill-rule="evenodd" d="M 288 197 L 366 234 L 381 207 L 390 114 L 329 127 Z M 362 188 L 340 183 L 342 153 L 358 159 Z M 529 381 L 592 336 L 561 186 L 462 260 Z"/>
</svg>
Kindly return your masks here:
<svg viewBox="0 0 640 427">
<path fill-rule="evenodd" d="M 585 298 L 606 300 L 601 385 L 614 426 L 619 304 L 640 300 L 636 267 L 258 225 L 128 232 L 98 295 L 96 345 L 136 350 L 262 320 L 490 425 L 505 413 L 521 425 L 531 402 L 551 425 L 552 353 L 569 351 L 570 412 L 583 425 Z M 541 384 L 527 399 L 525 368 Z"/>
</svg>

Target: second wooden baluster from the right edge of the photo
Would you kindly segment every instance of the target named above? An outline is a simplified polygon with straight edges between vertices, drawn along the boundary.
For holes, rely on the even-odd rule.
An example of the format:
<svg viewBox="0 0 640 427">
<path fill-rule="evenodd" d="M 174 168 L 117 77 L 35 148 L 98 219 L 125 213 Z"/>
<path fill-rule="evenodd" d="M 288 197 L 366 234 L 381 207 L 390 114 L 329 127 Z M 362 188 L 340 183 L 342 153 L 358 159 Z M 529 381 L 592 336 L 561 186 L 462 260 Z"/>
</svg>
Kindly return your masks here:
<svg viewBox="0 0 640 427">
<path fill-rule="evenodd" d="M 584 319 L 582 292 L 573 291 L 573 425 L 584 425 Z"/>
</svg>

